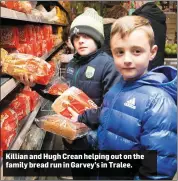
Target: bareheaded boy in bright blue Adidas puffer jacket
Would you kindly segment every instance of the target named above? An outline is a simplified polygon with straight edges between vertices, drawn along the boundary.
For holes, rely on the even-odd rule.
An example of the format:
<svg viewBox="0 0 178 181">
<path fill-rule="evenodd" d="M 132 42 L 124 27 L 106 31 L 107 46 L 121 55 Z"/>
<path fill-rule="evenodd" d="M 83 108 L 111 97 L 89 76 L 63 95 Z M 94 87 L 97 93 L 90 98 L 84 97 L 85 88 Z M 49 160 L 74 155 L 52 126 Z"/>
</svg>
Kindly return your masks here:
<svg viewBox="0 0 178 181">
<path fill-rule="evenodd" d="M 157 175 L 144 175 L 141 171 L 149 166 L 141 165 L 135 179 L 172 179 L 177 168 L 177 71 L 162 66 L 147 72 L 157 46 L 149 21 L 140 16 L 113 24 L 111 50 L 122 77 L 103 101 L 99 149 L 156 150 Z"/>
</svg>

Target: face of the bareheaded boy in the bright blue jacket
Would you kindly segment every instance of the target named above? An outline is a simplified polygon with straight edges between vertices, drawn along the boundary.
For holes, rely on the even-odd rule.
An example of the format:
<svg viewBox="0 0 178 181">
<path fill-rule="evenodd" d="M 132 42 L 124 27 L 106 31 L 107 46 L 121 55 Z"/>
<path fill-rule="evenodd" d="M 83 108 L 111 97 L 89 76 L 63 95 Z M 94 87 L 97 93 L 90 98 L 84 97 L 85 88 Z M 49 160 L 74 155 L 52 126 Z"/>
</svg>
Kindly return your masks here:
<svg viewBox="0 0 178 181">
<path fill-rule="evenodd" d="M 136 29 L 123 39 L 115 34 L 111 39 L 111 50 L 116 68 L 124 80 L 135 80 L 147 72 L 157 46 L 151 48 L 145 31 Z"/>
</svg>

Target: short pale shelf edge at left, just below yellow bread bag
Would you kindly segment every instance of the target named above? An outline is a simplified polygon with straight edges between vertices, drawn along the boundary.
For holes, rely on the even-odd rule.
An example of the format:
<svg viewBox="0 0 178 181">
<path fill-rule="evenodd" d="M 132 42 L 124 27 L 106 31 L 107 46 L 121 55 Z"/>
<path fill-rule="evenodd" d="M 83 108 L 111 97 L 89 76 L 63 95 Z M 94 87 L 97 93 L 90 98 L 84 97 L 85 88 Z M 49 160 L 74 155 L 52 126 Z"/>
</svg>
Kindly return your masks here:
<svg viewBox="0 0 178 181">
<path fill-rule="evenodd" d="M 14 88 L 17 87 L 19 81 L 13 78 L 1 77 L 1 96 L 0 101 L 3 100 Z"/>
</svg>

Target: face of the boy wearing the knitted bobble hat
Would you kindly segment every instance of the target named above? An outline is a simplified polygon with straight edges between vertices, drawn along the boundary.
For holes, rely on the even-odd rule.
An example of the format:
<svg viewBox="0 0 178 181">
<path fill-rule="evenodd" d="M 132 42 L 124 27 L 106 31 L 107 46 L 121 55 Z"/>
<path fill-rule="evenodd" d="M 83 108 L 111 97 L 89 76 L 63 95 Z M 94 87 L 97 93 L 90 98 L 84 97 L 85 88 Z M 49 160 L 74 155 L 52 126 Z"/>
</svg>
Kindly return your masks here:
<svg viewBox="0 0 178 181">
<path fill-rule="evenodd" d="M 83 33 L 75 35 L 73 43 L 79 55 L 88 55 L 97 50 L 95 41 L 91 37 Z"/>
</svg>

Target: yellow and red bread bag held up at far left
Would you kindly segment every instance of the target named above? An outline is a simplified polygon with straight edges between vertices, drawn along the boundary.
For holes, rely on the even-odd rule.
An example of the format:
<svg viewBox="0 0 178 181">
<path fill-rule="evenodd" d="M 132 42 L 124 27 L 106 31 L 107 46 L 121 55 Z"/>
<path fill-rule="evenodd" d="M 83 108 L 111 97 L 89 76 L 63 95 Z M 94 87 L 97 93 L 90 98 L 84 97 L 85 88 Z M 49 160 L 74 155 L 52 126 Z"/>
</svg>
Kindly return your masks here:
<svg viewBox="0 0 178 181">
<path fill-rule="evenodd" d="M 2 72 L 18 77 L 20 74 L 33 75 L 35 83 L 47 85 L 53 76 L 51 65 L 41 58 L 23 53 L 11 53 L 3 59 Z"/>
</svg>

